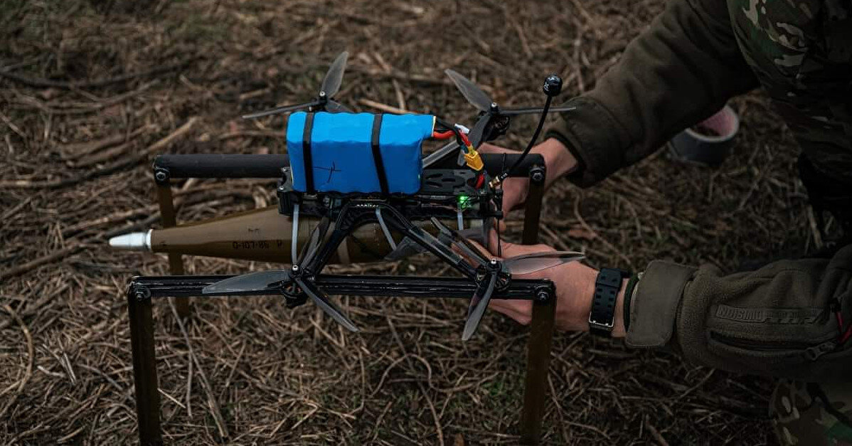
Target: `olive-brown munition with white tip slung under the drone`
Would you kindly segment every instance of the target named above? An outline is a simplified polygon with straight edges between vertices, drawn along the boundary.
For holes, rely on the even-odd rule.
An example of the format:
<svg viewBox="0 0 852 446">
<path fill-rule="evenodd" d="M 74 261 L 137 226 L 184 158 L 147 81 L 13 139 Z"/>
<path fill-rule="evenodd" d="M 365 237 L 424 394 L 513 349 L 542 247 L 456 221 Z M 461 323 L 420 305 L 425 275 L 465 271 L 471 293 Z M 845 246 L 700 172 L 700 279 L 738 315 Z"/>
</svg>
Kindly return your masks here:
<svg viewBox="0 0 852 446">
<path fill-rule="evenodd" d="M 244 211 L 226 217 L 211 218 L 196 223 L 186 223 L 173 228 L 150 229 L 118 235 L 109 240 L 110 246 L 135 251 L 171 252 L 215 258 L 238 258 L 261 262 L 290 264 L 294 253 L 300 252 L 320 219 L 299 218 L 293 232 L 291 217 L 279 213 L 276 206 Z M 451 222 L 446 222 L 452 224 Z M 417 223 L 435 234 L 429 222 Z M 469 227 L 481 227 L 481 221 L 465 221 Z M 292 240 L 296 239 L 296 249 Z M 390 231 L 399 242 L 402 236 Z M 354 230 L 337 247 L 330 264 L 376 262 L 394 251 L 377 223 L 369 223 Z"/>
</svg>

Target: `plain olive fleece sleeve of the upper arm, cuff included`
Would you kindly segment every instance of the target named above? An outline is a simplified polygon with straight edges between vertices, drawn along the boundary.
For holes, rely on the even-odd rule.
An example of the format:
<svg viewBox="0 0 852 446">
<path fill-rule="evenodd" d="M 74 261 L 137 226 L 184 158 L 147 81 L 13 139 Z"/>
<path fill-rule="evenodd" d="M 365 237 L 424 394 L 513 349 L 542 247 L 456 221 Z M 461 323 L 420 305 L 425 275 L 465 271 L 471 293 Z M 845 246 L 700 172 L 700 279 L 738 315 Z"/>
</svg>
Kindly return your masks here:
<svg viewBox="0 0 852 446">
<path fill-rule="evenodd" d="M 724 0 L 671 0 L 594 90 L 569 101 L 556 137 L 579 159 L 580 186 L 648 156 L 671 136 L 757 87 Z"/>
</svg>

